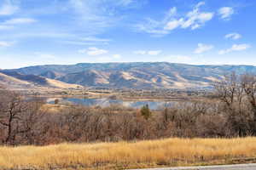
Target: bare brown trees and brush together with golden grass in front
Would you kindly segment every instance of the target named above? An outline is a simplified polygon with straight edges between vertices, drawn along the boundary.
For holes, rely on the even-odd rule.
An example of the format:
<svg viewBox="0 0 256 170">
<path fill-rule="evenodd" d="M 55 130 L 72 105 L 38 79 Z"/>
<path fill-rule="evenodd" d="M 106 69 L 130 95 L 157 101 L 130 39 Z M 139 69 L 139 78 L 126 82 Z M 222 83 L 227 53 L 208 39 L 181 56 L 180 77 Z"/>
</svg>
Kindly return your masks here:
<svg viewBox="0 0 256 170">
<path fill-rule="evenodd" d="M 161 111 L 58 101 L 52 106 L 1 90 L 0 167 L 123 169 L 255 161 L 256 139 L 236 137 L 256 135 L 256 77 L 231 74 L 216 82 L 215 90 L 211 102 L 181 102 Z M 96 144 L 82 144 L 89 142 Z"/>
</svg>

